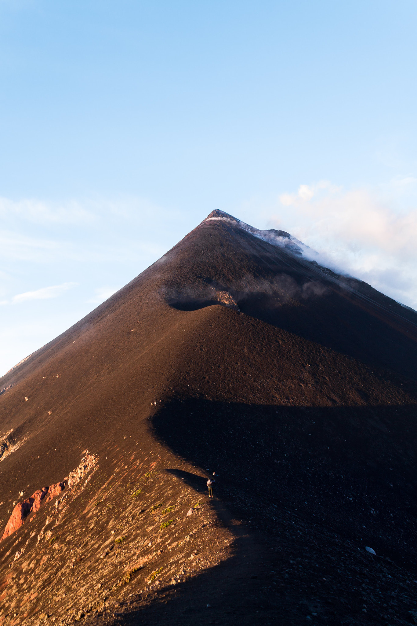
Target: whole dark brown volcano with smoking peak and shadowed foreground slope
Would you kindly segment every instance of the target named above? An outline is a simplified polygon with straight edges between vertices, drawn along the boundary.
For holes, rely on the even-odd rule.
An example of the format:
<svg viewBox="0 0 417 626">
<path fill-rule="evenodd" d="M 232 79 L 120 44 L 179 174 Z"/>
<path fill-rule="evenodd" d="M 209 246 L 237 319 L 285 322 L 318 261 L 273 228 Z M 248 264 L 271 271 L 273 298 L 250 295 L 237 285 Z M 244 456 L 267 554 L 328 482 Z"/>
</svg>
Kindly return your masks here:
<svg viewBox="0 0 417 626">
<path fill-rule="evenodd" d="M 416 348 L 214 211 L 0 380 L 0 624 L 417 623 Z"/>
</svg>

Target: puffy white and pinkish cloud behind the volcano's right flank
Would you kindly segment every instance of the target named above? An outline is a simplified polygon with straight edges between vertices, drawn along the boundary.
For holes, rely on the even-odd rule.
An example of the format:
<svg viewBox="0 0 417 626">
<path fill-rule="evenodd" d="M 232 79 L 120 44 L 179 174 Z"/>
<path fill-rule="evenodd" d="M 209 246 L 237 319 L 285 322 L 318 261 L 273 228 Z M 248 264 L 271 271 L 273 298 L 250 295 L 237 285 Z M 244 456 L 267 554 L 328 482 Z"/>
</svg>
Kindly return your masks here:
<svg viewBox="0 0 417 626">
<path fill-rule="evenodd" d="M 281 215 L 270 218 L 269 225 L 280 225 L 317 250 L 319 262 L 416 308 L 417 201 L 404 210 L 386 200 L 398 186 L 413 187 L 414 180 L 394 179 L 384 199 L 376 192 L 344 191 L 326 181 L 300 185 L 296 193 L 279 196 Z"/>
</svg>

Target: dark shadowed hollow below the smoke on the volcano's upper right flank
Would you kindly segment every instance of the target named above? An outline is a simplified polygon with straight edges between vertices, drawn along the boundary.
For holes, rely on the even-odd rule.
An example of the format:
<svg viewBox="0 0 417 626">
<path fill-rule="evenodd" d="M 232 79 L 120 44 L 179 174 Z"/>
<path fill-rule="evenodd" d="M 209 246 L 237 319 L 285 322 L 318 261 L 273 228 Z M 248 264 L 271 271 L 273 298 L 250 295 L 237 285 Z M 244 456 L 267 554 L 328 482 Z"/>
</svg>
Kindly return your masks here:
<svg viewBox="0 0 417 626">
<path fill-rule="evenodd" d="M 389 319 L 383 309 L 355 294 L 331 290 L 296 302 L 282 302 L 276 294 L 244 294 L 236 300 L 247 315 L 363 362 L 416 377 L 416 327 Z"/>
</svg>

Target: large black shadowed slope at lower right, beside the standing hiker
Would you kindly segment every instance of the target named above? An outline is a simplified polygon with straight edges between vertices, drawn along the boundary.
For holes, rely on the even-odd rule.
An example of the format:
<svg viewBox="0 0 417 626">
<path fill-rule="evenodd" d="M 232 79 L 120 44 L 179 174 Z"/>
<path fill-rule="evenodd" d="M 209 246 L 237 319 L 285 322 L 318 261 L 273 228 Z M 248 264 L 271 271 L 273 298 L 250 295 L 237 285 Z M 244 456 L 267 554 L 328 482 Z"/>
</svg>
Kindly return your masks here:
<svg viewBox="0 0 417 626">
<path fill-rule="evenodd" d="M 121 623 L 298 624 L 315 615 L 319 623 L 385 625 L 388 602 L 410 623 L 417 608 L 409 580 L 416 575 L 413 407 L 189 398 L 162 408 L 153 428 L 176 454 L 218 473 L 211 503 L 234 531 L 234 555 L 164 588 L 151 607 L 126 605 Z M 205 478 L 169 472 L 204 498 Z"/>
</svg>

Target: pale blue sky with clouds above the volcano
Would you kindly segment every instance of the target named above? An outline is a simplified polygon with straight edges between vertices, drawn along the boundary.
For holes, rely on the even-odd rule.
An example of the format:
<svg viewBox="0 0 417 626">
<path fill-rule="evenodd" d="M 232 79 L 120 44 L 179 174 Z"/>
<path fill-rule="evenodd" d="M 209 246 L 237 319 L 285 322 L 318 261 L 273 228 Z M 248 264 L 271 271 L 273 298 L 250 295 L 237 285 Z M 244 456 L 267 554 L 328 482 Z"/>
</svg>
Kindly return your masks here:
<svg viewBox="0 0 417 626">
<path fill-rule="evenodd" d="M 416 18 L 0 0 L 0 372 L 214 208 L 417 307 Z"/>
</svg>

